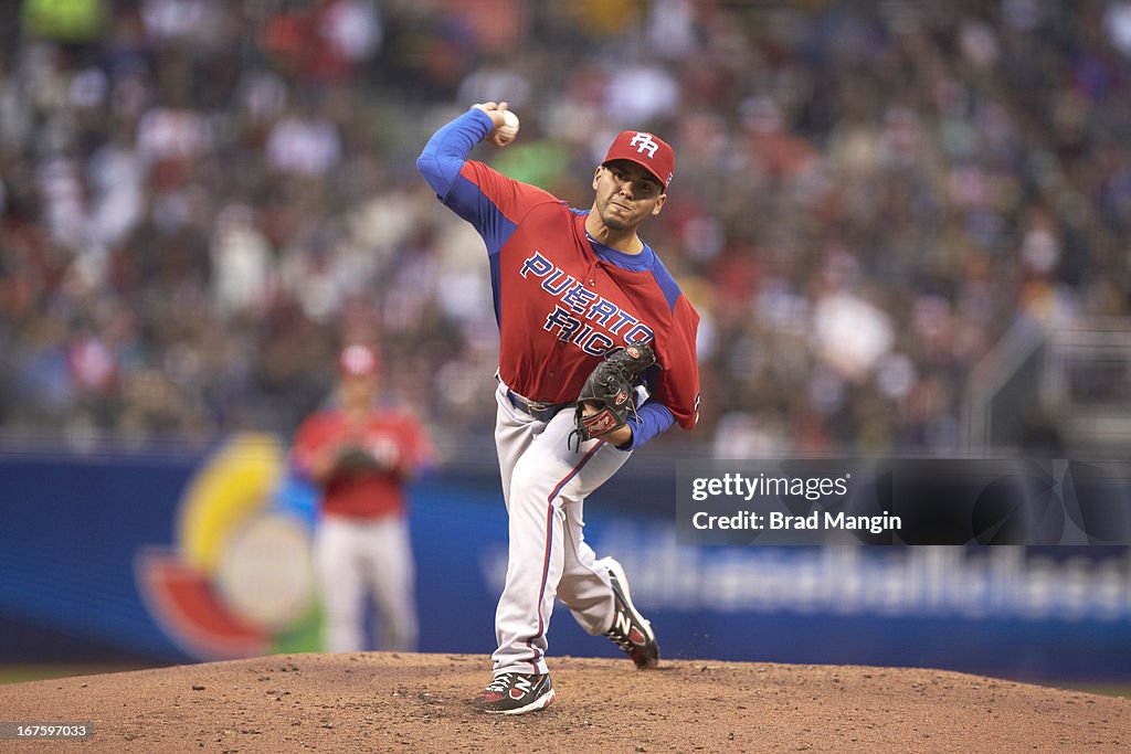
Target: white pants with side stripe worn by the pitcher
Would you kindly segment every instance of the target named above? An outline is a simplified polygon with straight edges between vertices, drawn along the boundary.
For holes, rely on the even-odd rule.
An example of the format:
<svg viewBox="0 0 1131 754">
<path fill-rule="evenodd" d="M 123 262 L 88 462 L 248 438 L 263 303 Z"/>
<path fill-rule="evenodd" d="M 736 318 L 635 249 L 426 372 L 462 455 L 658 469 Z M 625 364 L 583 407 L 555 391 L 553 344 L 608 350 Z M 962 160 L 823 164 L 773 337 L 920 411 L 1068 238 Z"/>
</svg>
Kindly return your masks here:
<svg viewBox="0 0 1131 754">
<path fill-rule="evenodd" d="M 608 573 L 594 565 L 596 555 L 585 541 L 582 505 L 631 451 L 599 440 L 571 450 L 572 410 L 539 422 L 515 408 L 501 382 L 495 400 L 495 445 L 510 545 L 507 583 L 495 612 L 494 674 L 545 674 L 546 631 L 555 597 L 589 634 L 612 625 L 613 591 Z"/>
</svg>

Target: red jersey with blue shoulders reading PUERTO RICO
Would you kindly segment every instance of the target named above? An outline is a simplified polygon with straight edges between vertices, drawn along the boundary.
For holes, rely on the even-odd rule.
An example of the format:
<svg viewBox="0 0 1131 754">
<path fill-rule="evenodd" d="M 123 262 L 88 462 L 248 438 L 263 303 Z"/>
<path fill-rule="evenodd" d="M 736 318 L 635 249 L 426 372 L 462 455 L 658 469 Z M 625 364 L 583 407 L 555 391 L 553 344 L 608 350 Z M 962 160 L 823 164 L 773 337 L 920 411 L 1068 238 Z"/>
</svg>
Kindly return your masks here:
<svg viewBox="0 0 1131 754">
<path fill-rule="evenodd" d="M 532 400 L 570 401 L 605 352 L 648 343 L 661 367 L 651 397 L 693 427 L 699 314 L 651 248 L 599 244 L 588 213 L 482 163 L 467 161 L 459 177 L 443 200 L 487 245 L 503 382 Z"/>
</svg>

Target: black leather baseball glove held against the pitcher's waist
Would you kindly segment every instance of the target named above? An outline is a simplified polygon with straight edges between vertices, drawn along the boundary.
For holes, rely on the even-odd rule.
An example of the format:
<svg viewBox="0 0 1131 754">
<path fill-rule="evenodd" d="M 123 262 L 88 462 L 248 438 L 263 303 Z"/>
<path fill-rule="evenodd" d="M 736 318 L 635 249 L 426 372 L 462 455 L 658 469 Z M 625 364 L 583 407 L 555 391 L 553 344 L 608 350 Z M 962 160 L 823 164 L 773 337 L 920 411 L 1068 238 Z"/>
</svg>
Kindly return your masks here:
<svg viewBox="0 0 1131 754">
<path fill-rule="evenodd" d="M 645 344 L 632 344 L 605 355 L 605 359 L 589 373 L 581 395 L 577 397 L 573 414 L 576 428 L 570 441 L 577 437 L 578 450 L 586 440 L 624 426 L 630 414 L 636 416 L 632 393 L 637 378 L 655 363 L 655 352 Z M 586 416 L 586 404 L 597 411 Z"/>
</svg>

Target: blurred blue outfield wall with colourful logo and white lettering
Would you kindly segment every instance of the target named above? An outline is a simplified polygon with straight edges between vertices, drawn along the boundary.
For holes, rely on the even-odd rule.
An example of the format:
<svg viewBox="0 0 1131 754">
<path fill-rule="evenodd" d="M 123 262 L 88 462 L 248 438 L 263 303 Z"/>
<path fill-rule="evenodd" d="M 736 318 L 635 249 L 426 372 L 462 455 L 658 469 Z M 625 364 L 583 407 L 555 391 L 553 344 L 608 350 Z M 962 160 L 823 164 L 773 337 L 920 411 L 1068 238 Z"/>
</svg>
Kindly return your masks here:
<svg viewBox="0 0 1131 754">
<path fill-rule="evenodd" d="M 630 463 L 586 509 L 681 658 L 1131 681 L 1126 547 L 692 546 L 671 478 Z M 497 470 L 412 486 L 421 649 L 489 653 L 506 572 Z M 312 492 L 285 449 L 0 456 L 0 661 L 319 649 Z M 559 607 L 551 655 L 613 657 Z"/>
</svg>

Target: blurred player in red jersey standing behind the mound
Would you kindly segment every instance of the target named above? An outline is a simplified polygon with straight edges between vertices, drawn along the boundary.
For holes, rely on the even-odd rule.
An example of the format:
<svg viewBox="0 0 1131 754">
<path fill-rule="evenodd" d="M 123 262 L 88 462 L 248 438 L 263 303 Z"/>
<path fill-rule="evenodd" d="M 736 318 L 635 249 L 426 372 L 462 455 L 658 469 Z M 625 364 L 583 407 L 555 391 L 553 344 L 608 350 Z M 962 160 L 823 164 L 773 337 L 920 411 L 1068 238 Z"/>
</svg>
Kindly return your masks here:
<svg viewBox="0 0 1131 754">
<path fill-rule="evenodd" d="M 431 442 L 415 417 L 379 406 L 372 348 L 346 347 L 338 371 L 337 405 L 302 423 L 293 451 L 297 470 L 321 492 L 314 564 L 326 648 L 365 649 L 369 592 L 382 627 L 378 648 L 412 650 L 417 621 L 405 482 L 430 462 Z"/>
</svg>

